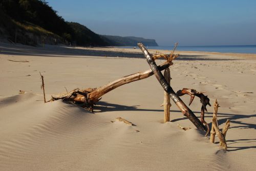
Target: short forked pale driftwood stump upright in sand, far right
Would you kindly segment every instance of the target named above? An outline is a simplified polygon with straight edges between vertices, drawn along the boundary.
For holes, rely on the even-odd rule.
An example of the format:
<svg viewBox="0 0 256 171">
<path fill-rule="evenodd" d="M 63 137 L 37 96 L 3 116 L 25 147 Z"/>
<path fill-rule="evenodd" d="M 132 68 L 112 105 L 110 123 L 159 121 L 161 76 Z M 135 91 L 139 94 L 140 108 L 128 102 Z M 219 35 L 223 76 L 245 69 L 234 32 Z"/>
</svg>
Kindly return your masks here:
<svg viewBox="0 0 256 171">
<path fill-rule="evenodd" d="M 214 104 L 214 115 L 212 116 L 210 142 L 212 142 L 212 143 L 215 142 L 215 135 L 217 134 L 217 136 L 219 137 L 219 140 L 220 140 L 220 147 L 223 148 L 224 151 L 226 151 L 227 150 L 226 133 L 230 126 L 230 120 L 227 119 L 227 121 L 222 129 L 222 132 L 221 132 L 219 129 L 219 126 L 218 126 L 218 119 L 217 119 L 218 108 L 219 108 L 219 103 L 216 99 L 215 104 Z"/>
</svg>

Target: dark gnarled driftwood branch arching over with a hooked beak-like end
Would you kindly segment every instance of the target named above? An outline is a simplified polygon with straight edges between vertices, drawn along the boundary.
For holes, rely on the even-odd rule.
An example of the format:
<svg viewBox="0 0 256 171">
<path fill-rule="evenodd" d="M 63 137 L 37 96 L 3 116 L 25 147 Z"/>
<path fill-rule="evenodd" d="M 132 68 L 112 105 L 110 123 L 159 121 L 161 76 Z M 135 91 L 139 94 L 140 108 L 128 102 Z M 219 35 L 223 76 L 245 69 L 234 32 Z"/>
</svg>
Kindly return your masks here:
<svg viewBox="0 0 256 171">
<path fill-rule="evenodd" d="M 190 101 L 188 105 L 190 105 L 193 102 L 195 96 L 200 98 L 200 102 L 202 103 L 201 122 L 207 127 L 207 133 L 205 134 L 205 136 L 207 136 L 210 132 L 210 129 L 209 129 L 209 124 L 204 120 L 204 111 L 207 112 L 206 105 L 209 105 L 209 106 L 211 105 L 210 105 L 210 99 L 207 96 L 205 96 L 203 93 L 205 92 L 198 92 L 194 89 L 186 89 L 186 88 L 183 88 L 182 90 L 177 91 L 178 96 L 183 96 L 184 94 L 188 94 L 190 96 Z"/>
</svg>

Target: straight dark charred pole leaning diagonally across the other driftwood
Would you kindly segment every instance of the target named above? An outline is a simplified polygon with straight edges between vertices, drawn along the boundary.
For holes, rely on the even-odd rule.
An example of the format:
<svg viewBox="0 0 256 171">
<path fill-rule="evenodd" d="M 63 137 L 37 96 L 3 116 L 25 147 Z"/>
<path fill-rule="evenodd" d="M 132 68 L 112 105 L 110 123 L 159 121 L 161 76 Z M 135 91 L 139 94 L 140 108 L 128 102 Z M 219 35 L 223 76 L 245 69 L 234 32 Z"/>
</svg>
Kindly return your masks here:
<svg viewBox="0 0 256 171">
<path fill-rule="evenodd" d="M 170 85 L 166 82 L 166 80 L 163 77 L 163 74 L 158 70 L 155 61 L 153 60 L 150 53 L 146 50 L 146 48 L 141 43 L 138 43 L 138 46 L 143 52 L 144 56 L 146 57 L 147 63 L 148 65 L 150 65 L 150 68 L 154 72 L 154 75 L 156 76 L 157 80 L 159 81 L 163 89 L 168 94 L 170 94 L 170 98 L 172 98 L 172 100 L 181 110 L 183 115 L 186 116 L 199 130 L 207 131 L 204 125 L 195 116 L 195 114 L 186 106 L 186 104 L 179 98 L 179 96 L 176 95 L 173 88 L 170 87 Z"/>
</svg>

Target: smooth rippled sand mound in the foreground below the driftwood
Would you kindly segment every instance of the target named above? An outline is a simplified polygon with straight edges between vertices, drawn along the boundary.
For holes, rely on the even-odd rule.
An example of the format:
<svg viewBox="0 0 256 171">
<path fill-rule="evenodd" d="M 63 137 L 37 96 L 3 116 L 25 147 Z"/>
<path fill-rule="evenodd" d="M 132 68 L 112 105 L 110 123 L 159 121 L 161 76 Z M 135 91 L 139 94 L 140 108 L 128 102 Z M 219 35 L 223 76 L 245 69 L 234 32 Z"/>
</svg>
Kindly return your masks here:
<svg viewBox="0 0 256 171">
<path fill-rule="evenodd" d="M 111 123 L 118 114 L 91 114 L 62 101 L 40 100 L 41 96 L 33 94 L 1 99 L 0 170 L 231 167 L 228 155 L 196 129 L 185 132 L 176 123 L 143 120 L 137 126 Z"/>
</svg>

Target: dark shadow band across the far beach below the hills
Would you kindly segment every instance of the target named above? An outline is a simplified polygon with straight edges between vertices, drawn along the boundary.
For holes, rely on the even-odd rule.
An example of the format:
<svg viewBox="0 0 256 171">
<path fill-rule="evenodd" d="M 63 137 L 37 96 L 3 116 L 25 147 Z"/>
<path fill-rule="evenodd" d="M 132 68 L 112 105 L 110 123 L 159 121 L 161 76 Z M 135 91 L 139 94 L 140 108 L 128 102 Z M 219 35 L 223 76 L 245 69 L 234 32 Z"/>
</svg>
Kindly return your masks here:
<svg viewBox="0 0 256 171">
<path fill-rule="evenodd" d="M 105 47 L 104 47 L 105 48 Z M 144 58 L 139 52 L 117 52 L 109 48 L 109 51 L 92 49 L 76 49 L 66 46 L 46 45 L 46 48 L 30 47 L 22 45 L 0 44 L 0 53 L 6 55 L 26 55 L 26 56 L 45 56 L 45 57 L 77 57 L 90 58 L 92 56 L 100 57 L 128 57 Z M 209 55 L 180 55 L 176 60 L 237 60 L 225 58 L 210 58 Z"/>
</svg>

